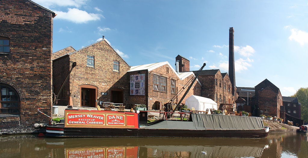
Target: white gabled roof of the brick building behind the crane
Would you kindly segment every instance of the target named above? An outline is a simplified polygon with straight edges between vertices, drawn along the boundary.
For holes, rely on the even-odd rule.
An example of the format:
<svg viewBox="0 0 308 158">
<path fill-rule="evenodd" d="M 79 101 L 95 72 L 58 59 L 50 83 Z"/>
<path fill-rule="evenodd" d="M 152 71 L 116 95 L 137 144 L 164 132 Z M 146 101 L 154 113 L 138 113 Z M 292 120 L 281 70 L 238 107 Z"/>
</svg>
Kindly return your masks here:
<svg viewBox="0 0 308 158">
<path fill-rule="evenodd" d="M 152 71 L 158 67 L 161 67 L 161 66 L 164 66 L 164 65 L 168 65 L 172 71 L 177 75 L 177 77 L 180 79 L 180 80 L 183 80 L 185 78 L 187 78 L 188 76 L 190 75 L 194 75 L 193 72 L 191 71 L 188 71 L 188 72 L 180 72 L 179 74 L 176 73 L 176 71 L 174 70 L 174 68 L 170 65 L 169 62 L 165 61 L 165 62 L 160 62 L 160 63 L 151 63 L 151 64 L 144 64 L 144 65 L 138 65 L 138 66 L 132 66 L 130 68 L 129 71 L 127 72 L 133 72 L 133 71 L 141 71 L 141 70 L 148 70 L 148 71 Z M 199 82 L 199 81 L 198 81 Z M 199 84 L 201 85 L 201 83 L 199 82 Z"/>
</svg>

